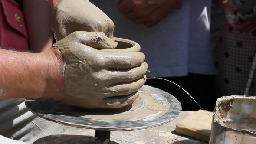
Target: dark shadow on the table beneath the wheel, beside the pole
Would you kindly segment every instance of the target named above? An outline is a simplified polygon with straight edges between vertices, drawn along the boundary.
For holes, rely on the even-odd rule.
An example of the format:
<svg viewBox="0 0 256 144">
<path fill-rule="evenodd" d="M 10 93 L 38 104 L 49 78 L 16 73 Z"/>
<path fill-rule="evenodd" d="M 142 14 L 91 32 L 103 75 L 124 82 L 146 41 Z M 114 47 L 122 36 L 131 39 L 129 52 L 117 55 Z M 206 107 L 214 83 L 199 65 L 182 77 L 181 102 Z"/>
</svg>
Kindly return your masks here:
<svg viewBox="0 0 256 144">
<path fill-rule="evenodd" d="M 110 141 L 111 144 L 119 144 Z M 33 144 L 94 144 L 94 137 L 84 135 L 56 134 L 39 138 Z"/>
</svg>

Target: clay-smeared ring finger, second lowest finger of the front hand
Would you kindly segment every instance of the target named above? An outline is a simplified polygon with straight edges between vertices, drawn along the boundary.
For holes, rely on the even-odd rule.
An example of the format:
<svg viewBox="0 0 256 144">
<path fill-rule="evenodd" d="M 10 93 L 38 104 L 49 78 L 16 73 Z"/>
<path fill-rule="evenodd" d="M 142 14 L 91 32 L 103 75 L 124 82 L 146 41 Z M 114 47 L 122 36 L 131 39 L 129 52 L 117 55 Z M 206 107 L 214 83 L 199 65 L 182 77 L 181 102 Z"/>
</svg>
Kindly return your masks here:
<svg viewBox="0 0 256 144">
<path fill-rule="evenodd" d="M 118 95 L 129 95 L 138 89 L 140 89 L 146 82 L 146 75 L 143 75 L 141 78 L 136 79 L 132 82 L 119 83 L 115 85 L 110 85 L 107 88 L 108 95 L 106 97 L 113 97 Z"/>
</svg>

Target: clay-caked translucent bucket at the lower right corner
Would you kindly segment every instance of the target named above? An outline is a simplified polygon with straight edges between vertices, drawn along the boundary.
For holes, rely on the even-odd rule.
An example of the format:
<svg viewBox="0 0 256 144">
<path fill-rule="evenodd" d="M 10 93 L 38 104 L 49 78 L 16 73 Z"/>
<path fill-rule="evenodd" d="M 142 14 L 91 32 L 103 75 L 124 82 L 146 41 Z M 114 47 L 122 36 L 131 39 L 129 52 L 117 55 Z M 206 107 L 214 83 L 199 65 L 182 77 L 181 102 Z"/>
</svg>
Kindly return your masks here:
<svg viewBox="0 0 256 144">
<path fill-rule="evenodd" d="M 218 98 L 213 111 L 209 144 L 255 144 L 256 97 Z"/>
</svg>

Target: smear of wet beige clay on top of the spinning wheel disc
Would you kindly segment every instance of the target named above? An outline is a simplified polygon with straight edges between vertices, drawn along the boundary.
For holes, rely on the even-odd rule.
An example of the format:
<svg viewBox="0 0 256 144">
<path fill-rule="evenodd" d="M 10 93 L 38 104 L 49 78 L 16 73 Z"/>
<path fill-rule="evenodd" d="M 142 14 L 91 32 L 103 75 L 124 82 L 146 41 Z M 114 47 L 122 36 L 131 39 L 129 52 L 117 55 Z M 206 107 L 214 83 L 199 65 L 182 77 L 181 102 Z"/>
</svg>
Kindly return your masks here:
<svg viewBox="0 0 256 144">
<path fill-rule="evenodd" d="M 164 115 L 169 109 L 170 104 L 163 97 L 152 97 L 149 93 L 139 92 L 139 97 L 131 105 L 131 109 L 121 113 L 105 113 L 95 111 L 67 111 L 74 116 L 83 118 L 91 118 L 103 121 L 113 121 L 117 119 L 127 119 L 128 121 L 141 120 L 147 121 L 150 119 L 159 118 Z M 167 103 L 162 103 L 166 101 Z"/>
</svg>

